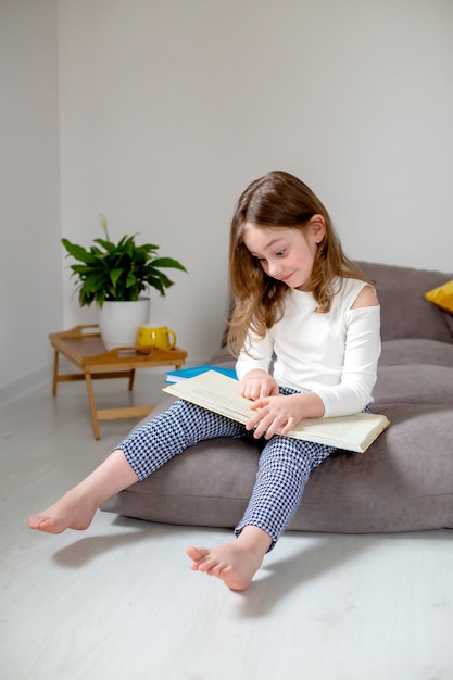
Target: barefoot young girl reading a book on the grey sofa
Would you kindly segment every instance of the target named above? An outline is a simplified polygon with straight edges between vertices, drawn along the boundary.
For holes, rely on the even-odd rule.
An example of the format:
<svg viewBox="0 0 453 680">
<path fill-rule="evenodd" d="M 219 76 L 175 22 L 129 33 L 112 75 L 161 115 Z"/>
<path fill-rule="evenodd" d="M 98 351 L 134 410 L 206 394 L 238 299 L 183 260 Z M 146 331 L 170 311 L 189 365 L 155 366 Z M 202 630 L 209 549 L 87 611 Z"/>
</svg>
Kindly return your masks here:
<svg viewBox="0 0 453 680">
<path fill-rule="evenodd" d="M 269 173 L 240 197 L 229 262 L 235 310 L 228 344 L 253 417 L 243 427 L 176 401 L 54 505 L 32 516 L 32 529 L 86 529 L 106 499 L 201 440 L 263 438 L 235 540 L 187 551 L 193 570 L 232 590 L 250 585 L 295 513 L 311 471 L 335 451 L 285 435 L 301 418 L 368 408 L 380 353 L 379 303 L 372 282 L 344 256 L 324 205 L 287 173 Z"/>
</svg>

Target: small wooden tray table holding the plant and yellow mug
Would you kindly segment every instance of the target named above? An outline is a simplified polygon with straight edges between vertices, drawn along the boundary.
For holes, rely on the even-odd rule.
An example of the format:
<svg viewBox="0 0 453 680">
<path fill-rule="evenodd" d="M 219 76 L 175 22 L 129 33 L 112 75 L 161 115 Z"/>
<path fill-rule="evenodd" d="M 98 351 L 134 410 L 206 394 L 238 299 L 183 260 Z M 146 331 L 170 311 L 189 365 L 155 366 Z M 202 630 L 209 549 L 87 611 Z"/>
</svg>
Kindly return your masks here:
<svg viewBox="0 0 453 680">
<path fill-rule="evenodd" d="M 95 401 L 92 380 L 105 378 L 129 378 L 129 391 L 134 388 L 136 368 L 154 366 L 184 366 L 187 352 L 175 348 L 163 351 L 155 348 L 136 347 L 105 350 L 97 325 L 76 326 L 71 330 L 53 332 L 49 336 L 55 354 L 53 360 L 52 394 L 56 396 L 59 382 L 85 380 L 91 413 L 95 439 L 100 439 L 99 420 L 119 418 L 141 418 L 153 408 L 150 406 L 123 406 L 119 408 L 98 408 Z M 62 354 L 72 362 L 80 374 L 60 374 L 59 356 Z"/>
</svg>

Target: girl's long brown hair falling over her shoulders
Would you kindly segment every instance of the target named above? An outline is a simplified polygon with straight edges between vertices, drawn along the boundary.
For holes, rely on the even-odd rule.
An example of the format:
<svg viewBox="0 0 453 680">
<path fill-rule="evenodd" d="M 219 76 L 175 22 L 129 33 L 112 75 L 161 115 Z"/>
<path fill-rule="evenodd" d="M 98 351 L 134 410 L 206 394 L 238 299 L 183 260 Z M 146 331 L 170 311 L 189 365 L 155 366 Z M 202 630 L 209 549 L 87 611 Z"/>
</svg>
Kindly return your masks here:
<svg viewBox="0 0 453 680">
<path fill-rule="evenodd" d="M 362 279 L 364 274 L 344 255 L 327 210 L 313 191 L 300 179 L 274 171 L 253 181 L 241 194 L 231 221 L 229 243 L 229 281 L 234 310 L 228 327 L 227 343 L 237 355 L 248 331 L 264 337 L 266 330 L 284 313 L 285 295 L 290 288 L 265 274 L 243 242 L 247 223 L 262 227 L 304 229 L 314 215 L 322 215 L 326 234 L 316 251 L 311 277 L 311 291 L 318 312 L 331 305 L 335 277 Z"/>
</svg>

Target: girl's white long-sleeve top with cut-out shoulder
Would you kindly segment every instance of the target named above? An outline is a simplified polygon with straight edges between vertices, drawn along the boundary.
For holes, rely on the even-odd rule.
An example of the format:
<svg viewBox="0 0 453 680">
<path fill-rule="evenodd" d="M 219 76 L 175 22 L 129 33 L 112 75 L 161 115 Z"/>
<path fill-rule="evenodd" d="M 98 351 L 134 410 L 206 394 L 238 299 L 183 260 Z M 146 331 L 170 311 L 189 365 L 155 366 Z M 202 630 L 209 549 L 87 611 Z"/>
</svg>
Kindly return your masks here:
<svg viewBox="0 0 453 680">
<path fill-rule="evenodd" d="M 249 335 L 236 363 L 238 378 L 273 366 L 280 387 L 316 392 L 324 417 L 358 413 L 372 403 L 380 355 L 380 307 L 352 310 L 367 284 L 352 278 L 337 284 L 340 290 L 327 314 L 316 312 L 312 293 L 289 291 L 282 318 L 263 339 Z"/>
</svg>

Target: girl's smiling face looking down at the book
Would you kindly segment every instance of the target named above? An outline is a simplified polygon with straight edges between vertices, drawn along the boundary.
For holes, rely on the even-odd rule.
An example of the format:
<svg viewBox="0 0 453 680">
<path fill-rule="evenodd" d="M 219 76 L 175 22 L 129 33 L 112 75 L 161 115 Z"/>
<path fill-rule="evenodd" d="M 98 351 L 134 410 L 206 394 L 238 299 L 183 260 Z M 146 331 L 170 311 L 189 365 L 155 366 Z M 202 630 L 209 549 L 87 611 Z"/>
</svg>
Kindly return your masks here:
<svg viewBox="0 0 453 680">
<path fill-rule="evenodd" d="M 324 217 L 314 215 L 303 229 L 247 223 L 243 242 L 268 276 L 290 288 L 310 290 L 316 250 L 325 234 Z"/>
</svg>

